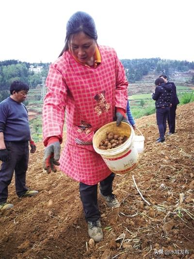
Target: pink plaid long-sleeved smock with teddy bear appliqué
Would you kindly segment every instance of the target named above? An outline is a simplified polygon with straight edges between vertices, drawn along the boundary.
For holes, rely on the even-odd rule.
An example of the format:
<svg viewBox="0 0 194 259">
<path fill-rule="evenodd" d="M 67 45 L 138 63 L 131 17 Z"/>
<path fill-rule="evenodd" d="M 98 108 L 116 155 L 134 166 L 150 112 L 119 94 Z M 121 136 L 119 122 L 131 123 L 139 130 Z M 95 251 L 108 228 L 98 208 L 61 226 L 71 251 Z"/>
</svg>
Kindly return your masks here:
<svg viewBox="0 0 194 259">
<path fill-rule="evenodd" d="M 115 107 L 126 110 L 128 98 L 125 70 L 116 52 L 98 47 L 101 63 L 95 69 L 78 63 L 68 51 L 50 65 L 43 106 L 44 144 L 51 136 L 62 142 L 66 116 L 67 139 L 60 169 L 88 185 L 111 173 L 93 148 L 94 133 L 113 121 Z"/>
</svg>

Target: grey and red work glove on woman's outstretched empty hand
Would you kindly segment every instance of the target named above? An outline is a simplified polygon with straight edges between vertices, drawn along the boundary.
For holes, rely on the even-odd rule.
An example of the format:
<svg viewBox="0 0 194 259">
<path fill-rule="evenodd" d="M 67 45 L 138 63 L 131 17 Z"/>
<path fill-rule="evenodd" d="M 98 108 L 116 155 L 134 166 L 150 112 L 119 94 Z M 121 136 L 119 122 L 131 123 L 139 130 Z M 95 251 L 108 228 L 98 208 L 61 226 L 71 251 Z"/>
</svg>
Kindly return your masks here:
<svg viewBox="0 0 194 259">
<path fill-rule="evenodd" d="M 44 152 L 43 168 L 47 170 L 47 173 L 53 171 L 57 172 L 55 165 L 59 166 L 61 145 L 57 137 L 49 138 L 48 145 Z"/>
</svg>

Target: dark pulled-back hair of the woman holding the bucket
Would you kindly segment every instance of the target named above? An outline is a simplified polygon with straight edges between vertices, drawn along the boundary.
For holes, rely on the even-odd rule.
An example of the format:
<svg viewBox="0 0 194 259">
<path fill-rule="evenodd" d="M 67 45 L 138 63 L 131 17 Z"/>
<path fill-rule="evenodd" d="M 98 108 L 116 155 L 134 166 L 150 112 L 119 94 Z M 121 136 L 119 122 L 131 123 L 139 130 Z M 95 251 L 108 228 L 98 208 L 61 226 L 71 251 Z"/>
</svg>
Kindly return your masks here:
<svg viewBox="0 0 194 259">
<path fill-rule="evenodd" d="M 69 18 L 66 25 L 65 47 L 59 57 L 69 49 L 70 36 L 80 32 L 97 40 L 97 30 L 94 19 L 85 12 L 76 12 Z"/>
</svg>

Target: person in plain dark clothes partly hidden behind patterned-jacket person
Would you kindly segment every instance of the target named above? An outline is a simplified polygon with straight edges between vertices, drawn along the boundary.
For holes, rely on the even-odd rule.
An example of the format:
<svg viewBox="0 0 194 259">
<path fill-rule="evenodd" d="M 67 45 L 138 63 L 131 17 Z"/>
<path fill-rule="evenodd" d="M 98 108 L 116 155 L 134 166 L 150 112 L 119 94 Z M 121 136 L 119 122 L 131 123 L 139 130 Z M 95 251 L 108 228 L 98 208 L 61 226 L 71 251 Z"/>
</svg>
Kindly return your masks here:
<svg viewBox="0 0 194 259">
<path fill-rule="evenodd" d="M 169 113 L 167 116 L 168 126 L 169 126 L 169 132 L 167 135 L 171 135 L 175 133 L 175 120 L 176 120 L 176 110 L 177 105 L 179 104 L 178 96 L 177 96 L 177 88 L 173 82 L 168 82 L 168 78 L 166 75 L 160 75 L 161 78 L 163 78 L 164 82 L 167 85 L 172 86 L 172 96 L 171 96 L 171 106 L 169 108 Z"/>
</svg>

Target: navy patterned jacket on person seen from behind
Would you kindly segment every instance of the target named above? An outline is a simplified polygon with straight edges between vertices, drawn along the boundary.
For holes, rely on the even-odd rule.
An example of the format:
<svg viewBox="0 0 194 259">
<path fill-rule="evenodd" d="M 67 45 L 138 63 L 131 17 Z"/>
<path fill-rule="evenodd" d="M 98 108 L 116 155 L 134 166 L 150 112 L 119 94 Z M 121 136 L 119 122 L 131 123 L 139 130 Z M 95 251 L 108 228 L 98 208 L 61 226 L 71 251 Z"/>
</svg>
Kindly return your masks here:
<svg viewBox="0 0 194 259">
<path fill-rule="evenodd" d="M 152 94 L 152 99 L 156 101 L 156 108 L 167 107 L 171 104 L 172 85 L 162 83 L 156 86 L 155 93 Z"/>
</svg>

